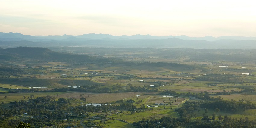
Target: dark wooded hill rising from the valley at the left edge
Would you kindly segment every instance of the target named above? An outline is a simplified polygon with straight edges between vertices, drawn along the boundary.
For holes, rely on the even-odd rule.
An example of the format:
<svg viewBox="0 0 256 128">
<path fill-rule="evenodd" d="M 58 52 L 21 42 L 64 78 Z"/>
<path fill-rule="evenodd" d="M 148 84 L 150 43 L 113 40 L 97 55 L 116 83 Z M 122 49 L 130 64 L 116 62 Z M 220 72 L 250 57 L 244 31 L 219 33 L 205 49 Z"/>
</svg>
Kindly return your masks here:
<svg viewBox="0 0 256 128">
<path fill-rule="evenodd" d="M 3 61 L 35 61 L 35 62 L 83 62 L 83 63 L 106 63 L 113 59 L 103 57 L 91 57 L 88 55 L 77 55 L 70 53 L 59 53 L 47 48 L 17 47 L 0 50 L 0 60 Z"/>
</svg>

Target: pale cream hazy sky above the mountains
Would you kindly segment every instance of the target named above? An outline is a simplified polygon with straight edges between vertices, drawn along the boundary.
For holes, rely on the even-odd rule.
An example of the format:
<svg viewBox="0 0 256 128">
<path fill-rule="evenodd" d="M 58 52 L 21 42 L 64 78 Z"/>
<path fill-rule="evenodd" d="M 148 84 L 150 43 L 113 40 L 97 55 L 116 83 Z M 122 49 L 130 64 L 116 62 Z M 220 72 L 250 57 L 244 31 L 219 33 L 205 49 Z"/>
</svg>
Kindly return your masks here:
<svg viewBox="0 0 256 128">
<path fill-rule="evenodd" d="M 255 7 L 251 0 L 0 0 L 0 32 L 256 36 Z"/>
</svg>

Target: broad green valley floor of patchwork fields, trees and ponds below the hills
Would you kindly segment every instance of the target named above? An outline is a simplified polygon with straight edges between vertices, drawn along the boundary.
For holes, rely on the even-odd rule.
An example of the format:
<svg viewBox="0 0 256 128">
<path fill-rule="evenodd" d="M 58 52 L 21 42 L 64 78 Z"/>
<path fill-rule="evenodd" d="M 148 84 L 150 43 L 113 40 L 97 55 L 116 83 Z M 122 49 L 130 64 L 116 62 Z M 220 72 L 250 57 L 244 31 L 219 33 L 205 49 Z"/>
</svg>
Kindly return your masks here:
<svg viewBox="0 0 256 128">
<path fill-rule="evenodd" d="M 227 108 L 218 106 L 219 111 L 211 108 L 212 106 L 207 106 L 207 111 L 206 107 L 201 107 L 202 104 L 215 101 L 234 101 L 241 106 L 244 104 L 254 106 L 256 103 L 254 63 L 222 62 L 217 59 L 198 61 L 189 60 L 188 56 L 168 59 L 165 55 L 154 56 L 151 53 L 148 53 L 151 54 L 149 57 L 144 58 L 132 55 L 135 53 L 141 55 L 143 52 L 123 52 L 126 53 L 129 54 L 128 57 L 123 57 L 126 55 L 121 53 L 114 58 L 111 58 L 111 54 L 103 56 L 129 61 L 111 60 L 113 62 L 104 63 L 22 61 L 1 64 L 0 108 L 6 111 L 16 109 L 23 103 L 25 105 L 17 110 L 19 113 L 2 116 L 11 119 L 19 115 L 16 116 L 17 120 L 31 121 L 31 117 L 32 120 L 33 118 L 41 120 L 38 116 L 42 115 L 42 111 L 41 114 L 36 114 L 41 110 L 38 107 L 41 107 L 48 118 L 60 117 L 53 119 L 52 122 L 40 124 L 41 127 L 47 128 L 75 125 L 136 127 L 132 125 L 133 122 L 144 120 L 154 124 L 157 122 L 152 123 L 152 120 L 159 121 L 163 117 L 170 116 L 190 117 L 191 121 L 198 119 L 204 122 L 207 116 L 211 119 L 214 114 L 215 120 L 218 120 L 219 115 L 227 115 L 237 119 L 248 117 L 256 121 L 254 107 L 230 109 L 229 105 L 226 105 Z M 250 75 L 242 73 L 250 73 Z M 55 107 L 42 105 L 43 102 L 40 100 L 44 98 L 47 101 L 43 102 L 54 104 L 52 106 Z M 91 103 L 106 105 L 94 106 L 95 108 L 91 105 L 86 106 Z M 186 108 L 189 104 L 194 105 Z M 30 105 L 31 109 L 26 105 Z M 181 113 L 183 110 L 180 109 L 183 108 L 188 109 L 186 116 L 181 116 L 184 113 Z M 58 115 L 59 113 L 61 115 Z M 51 116 L 52 114 L 55 116 Z M 61 117 L 63 115 L 64 117 Z M 45 116 L 45 120 L 48 118 Z M 33 127 L 36 127 L 36 124 Z"/>
</svg>

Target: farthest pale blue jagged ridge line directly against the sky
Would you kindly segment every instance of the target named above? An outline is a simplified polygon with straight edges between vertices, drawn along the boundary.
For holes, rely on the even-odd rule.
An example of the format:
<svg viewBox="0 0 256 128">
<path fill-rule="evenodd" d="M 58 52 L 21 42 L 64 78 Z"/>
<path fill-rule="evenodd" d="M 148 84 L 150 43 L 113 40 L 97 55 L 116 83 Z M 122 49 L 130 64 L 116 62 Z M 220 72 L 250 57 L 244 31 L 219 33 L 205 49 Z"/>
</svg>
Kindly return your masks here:
<svg viewBox="0 0 256 128">
<path fill-rule="evenodd" d="M 205 37 L 189 37 L 185 35 L 181 36 L 151 36 L 151 35 L 132 35 L 132 36 L 113 36 L 109 34 L 83 34 L 79 36 L 73 35 L 62 35 L 62 36 L 30 36 L 30 35 L 23 35 L 21 33 L 3 33 L 0 32 L 0 40 L 29 40 L 29 41 L 37 41 L 37 40 L 137 40 L 137 39 L 168 39 L 168 38 L 178 38 L 183 40 L 207 40 L 207 41 L 216 41 L 216 40 L 256 40 L 256 37 L 244 37 L 244 36 L 220 36 L 220 37 L 212 37 L 212 36 L 205 36 Z"/>
</svg>

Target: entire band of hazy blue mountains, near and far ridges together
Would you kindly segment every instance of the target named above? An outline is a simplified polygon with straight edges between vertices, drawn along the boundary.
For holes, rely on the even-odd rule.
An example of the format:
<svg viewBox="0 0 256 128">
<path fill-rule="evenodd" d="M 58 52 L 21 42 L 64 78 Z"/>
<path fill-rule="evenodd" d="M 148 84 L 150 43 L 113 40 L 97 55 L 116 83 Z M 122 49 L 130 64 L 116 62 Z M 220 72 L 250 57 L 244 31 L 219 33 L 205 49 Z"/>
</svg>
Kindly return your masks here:
<svg viewBox="0 0 256 128">
<path fill-rule="evenodd" d="M 31 36 L 0 32 L 0 47 L 107 47 L 107 48 L 200 48 L 200 49 L 256 49 L 256 37 L 220 36 L 112 36 L 83 34 L 79 36 Z"/>
</svg>

